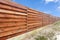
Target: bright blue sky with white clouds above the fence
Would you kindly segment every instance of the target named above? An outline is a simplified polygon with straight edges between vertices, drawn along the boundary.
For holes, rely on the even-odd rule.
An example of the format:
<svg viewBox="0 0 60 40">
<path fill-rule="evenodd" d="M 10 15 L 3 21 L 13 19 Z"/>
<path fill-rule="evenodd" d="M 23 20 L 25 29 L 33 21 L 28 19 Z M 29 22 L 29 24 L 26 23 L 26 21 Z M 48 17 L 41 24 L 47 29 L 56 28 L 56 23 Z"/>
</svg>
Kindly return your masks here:
<svg viewBox="0 0 60 40">
<path fill-rule="evenodd" d="M 60 0 L 13 0 L 29 8 L 60 17 Z"/>
</svg>

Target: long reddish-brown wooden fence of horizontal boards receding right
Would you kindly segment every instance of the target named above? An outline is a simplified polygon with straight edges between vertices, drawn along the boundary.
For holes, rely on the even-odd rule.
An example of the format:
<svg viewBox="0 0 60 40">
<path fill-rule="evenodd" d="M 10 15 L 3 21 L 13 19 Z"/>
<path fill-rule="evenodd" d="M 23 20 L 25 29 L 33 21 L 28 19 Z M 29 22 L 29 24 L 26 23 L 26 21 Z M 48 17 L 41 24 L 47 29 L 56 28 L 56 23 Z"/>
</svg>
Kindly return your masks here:
<svg viewBox="0 0 60 40">
<path fill-rule="evenodd" d="M 58 21 L 58 18 L 52 15 L 0 0 L 0 39 L 14 37 L 55 21 Z"/>
</svg>

